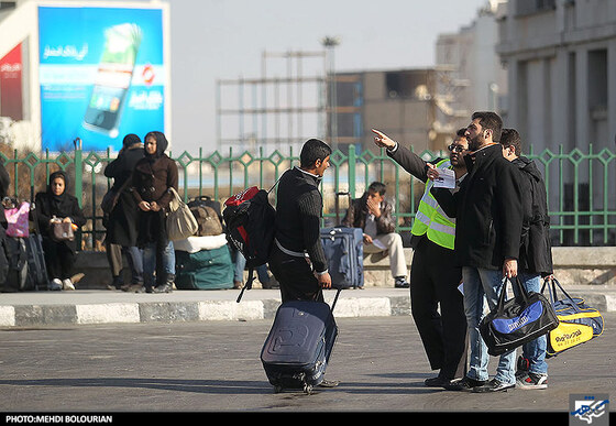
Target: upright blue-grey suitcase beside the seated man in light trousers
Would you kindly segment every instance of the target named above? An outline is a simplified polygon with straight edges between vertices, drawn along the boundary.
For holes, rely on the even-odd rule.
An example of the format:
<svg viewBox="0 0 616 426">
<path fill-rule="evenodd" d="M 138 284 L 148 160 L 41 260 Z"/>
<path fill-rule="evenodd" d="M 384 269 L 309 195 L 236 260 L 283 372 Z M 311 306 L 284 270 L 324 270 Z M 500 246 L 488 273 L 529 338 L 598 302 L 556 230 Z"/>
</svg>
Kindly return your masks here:
<svg viewBox="0 0 616 426">
<path fill-rule="evenodd" d="M 364 285 L 364 242 L 361 228 L 323 228 L 321 243 L 328 260 L 331 285 L 359 288 Z"/>
</svg>

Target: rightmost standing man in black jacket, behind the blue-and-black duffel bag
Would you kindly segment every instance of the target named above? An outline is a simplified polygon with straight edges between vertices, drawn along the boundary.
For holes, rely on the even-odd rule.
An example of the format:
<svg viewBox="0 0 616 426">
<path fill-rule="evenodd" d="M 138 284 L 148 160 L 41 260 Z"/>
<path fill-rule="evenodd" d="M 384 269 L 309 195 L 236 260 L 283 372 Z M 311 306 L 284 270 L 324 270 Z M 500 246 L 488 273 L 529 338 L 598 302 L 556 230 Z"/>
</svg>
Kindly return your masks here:
<svg viewBox="0 0 616 426">
<path fill-rule="evenodd" d="M 503 129 L 501 145 L 503 156 L 521 172 L 524 222 L 518 277 L 527 292 L 540 293 L 541 277 L 553 273 L 546 183 L 535 162 L 521 155 L 520 135 L 515 129 Z M 547 345 L 543 335 L 522 346 L 516 373 L 519 387 L 548 387 Z"/>
</svg>

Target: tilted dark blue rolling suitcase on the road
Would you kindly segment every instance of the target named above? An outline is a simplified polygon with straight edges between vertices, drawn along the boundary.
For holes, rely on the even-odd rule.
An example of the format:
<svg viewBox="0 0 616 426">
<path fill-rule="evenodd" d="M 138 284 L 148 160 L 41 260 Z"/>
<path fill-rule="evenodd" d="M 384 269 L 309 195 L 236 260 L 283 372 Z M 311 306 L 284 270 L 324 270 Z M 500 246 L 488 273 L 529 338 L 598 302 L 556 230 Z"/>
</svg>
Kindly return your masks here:
<svg viewBox="0 0 616 426">
<path fill-rule="evenodd" d="M 267 380 L 278 393 L 301 389 L 310 394 L 323 381 L 323 374 L 338 337 L 333 308 L 324 302 L 290 301 L 276 312 L 272 329 L 263 345 L 261 361 Z"/>
</svg>

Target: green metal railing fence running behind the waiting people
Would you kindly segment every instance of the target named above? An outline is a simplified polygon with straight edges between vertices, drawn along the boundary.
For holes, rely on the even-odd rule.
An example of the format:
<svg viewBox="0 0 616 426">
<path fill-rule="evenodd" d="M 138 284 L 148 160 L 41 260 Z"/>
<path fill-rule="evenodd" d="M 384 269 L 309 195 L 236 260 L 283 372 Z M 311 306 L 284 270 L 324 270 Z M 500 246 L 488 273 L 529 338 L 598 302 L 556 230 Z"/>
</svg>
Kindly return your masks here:
<svg viewBox="0 0 616 426">
<path fill-rule="evenodd" d="M 213 152 L 198 155 L 183 152 L 170 156 L 179 168 L 179 192 L 185 200 L 208 195 L 223 203 L 231 195 L 256 185 L 270 188 L 289 167 L 299 164 L 299 153 L 274 151 L 228 153 Z M 425 151 L 424 160 L 446 156 L 444 152 Z M 564 152 L 530 151 L 543 174 L 548 190 L 551 237 L 553 245 L 616 245 L 616 154 L 609 150 L 587 152 L 575 149 Z M 64 170 L 74 177 L 68 190 L 74 193 L 88 219 L 79 238 L 82 250 L 101 250 L 105 238 L 100 201 L 111 186 L 103 175 L 107 164 L 114 160 L 111 152 L 62 152 L 52 155 L 19 153 L 16 150 L 0 159 L 11 175 L 9 195 L 32 199 L 45 190 L 47 178 L 56 170 Z M 348 207 L 346 193 L 352 198 L 363 194 L 374 181 L 387 185 L 386 198 L 393 201 L 397 231 L 408 239 L 410 227 L 424 183 L 411 177 L 384 150 L 359 153 L 354 145 L 346 152 L 336 150 L 331 167 L 321 182 L 323 195 L 323 226 L 334 226 Z M 341 196 L 342 193 L 342 196 Z M 275 192 L 272 193 L 275 198 Z M 275 199 L 272 199 L 275 203 Z"/>
</svg>

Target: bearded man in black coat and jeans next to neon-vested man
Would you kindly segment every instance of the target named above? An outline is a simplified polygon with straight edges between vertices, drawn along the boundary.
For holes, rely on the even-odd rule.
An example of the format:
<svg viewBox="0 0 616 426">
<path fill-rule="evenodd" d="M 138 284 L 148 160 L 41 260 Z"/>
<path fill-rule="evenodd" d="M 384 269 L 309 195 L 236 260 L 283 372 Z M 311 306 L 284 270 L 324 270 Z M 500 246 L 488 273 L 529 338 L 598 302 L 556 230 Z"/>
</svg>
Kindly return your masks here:
<svg viewBox="0 0 616 426">
<path fill-rule="evenodd" d="M 484 296 L 493 309 L 503 277 L 517 275 L 521 236 L 519 172 L 503 157 L 503 120 L 494 112 L 475 112 L 466 128 L 469 174 L 460 190 L 432 188 L 440 206 L 457 218 L 455 262 L 462 266 L 464 310 L 469 327 L 470 365 L 466 376 L 448 389 L 474 392 L 505 391 L 516 384 L 515 351 L 501 356 L 496 375 L 487 381 L 487 347 L 479 332 Z"/>
</svg>

